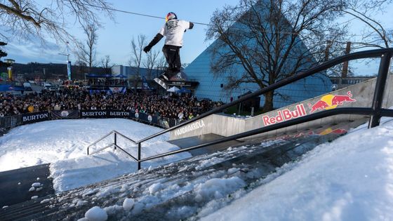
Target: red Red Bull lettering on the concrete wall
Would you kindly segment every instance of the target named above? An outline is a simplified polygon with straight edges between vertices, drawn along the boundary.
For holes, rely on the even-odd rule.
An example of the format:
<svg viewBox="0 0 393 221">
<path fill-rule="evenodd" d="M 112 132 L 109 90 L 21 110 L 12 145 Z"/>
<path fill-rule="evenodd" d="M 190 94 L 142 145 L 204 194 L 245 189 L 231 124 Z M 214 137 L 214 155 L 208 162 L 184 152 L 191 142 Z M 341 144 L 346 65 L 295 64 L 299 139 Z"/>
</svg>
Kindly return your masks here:
<svg viewBox="0 0 393 221">
<path fill-rule="evenodd" d="M 272 125 L 274 123 L 279 123 L 283 121 L 288 121 L 291 119 L 298 118 L 300 116 L 307 115 L 305 111 L 305 106 L 300 104 L 296 105 L 294 110 L 282 109 L 277 112 L 277 116 L 262 116 L 263 124 L 265 126 Z"/>
</svg>

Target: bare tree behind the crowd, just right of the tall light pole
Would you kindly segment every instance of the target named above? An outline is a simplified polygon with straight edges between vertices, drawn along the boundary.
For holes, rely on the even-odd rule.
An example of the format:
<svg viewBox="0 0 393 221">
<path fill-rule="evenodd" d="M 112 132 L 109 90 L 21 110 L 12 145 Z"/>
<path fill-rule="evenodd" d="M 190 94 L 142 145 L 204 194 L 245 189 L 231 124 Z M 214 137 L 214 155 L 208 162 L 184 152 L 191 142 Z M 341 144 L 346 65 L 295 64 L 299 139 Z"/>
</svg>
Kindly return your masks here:
<svg viewBox="0 0 393 221">
<path fill-rule="evenodd" d="M 91 67 L 95 66 L 95 55 L 98 41 L 98 26 L 94 24 L 88 24 L 84 26 L 84 33 L 86 34 L 86 41 L 84 43 L 78 43 L 77 56 L 78 59 L 85 62 L 88 65 L 88 72 L 91 71 Z"/>
</svg>

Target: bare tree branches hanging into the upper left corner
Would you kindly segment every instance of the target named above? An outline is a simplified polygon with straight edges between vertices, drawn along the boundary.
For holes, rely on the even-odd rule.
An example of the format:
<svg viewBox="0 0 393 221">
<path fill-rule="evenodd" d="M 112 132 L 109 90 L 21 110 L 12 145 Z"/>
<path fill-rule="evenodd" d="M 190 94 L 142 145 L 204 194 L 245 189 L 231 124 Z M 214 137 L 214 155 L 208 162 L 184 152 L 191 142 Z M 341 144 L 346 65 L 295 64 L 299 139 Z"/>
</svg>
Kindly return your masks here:
<svg viewBox="0 0 393 221">
<path fill-rule="evenodd" d="M 74 41 L 67 31 L 69 18 L 84 24 L 98 24 L 98 15 L 113 18 L 106 0 L 3 0 L 0 1 L 0 26 L 13 37 L 31 39 L 32 35 L 44 40 L 46 36 L 62 42 Z M 0 33 L 0 38 L 7 39 Z"/>
</svg>

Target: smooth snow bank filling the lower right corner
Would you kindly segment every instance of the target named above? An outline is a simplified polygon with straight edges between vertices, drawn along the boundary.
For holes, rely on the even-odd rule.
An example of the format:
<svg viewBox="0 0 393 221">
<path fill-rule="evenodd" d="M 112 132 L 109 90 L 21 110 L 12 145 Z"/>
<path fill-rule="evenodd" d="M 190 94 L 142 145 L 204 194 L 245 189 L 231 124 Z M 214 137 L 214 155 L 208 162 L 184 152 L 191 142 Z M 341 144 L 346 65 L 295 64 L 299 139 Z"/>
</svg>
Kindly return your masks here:
<svg viewBox="0 0 393 221">
<path fill-rule="evenodd" d="M 393 220 L 393 121 L 319 145 L 261 182 L 202 220 Z"/>
</svg>

